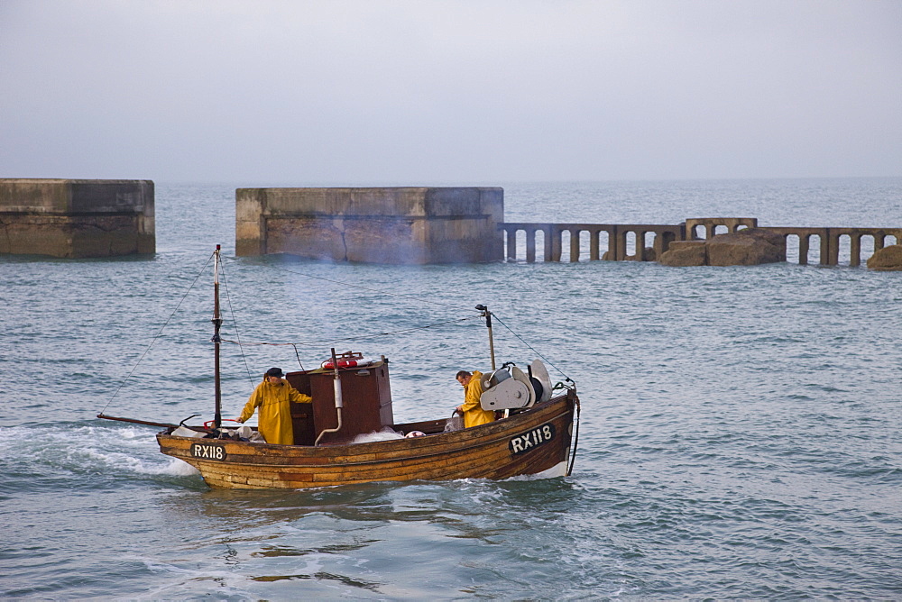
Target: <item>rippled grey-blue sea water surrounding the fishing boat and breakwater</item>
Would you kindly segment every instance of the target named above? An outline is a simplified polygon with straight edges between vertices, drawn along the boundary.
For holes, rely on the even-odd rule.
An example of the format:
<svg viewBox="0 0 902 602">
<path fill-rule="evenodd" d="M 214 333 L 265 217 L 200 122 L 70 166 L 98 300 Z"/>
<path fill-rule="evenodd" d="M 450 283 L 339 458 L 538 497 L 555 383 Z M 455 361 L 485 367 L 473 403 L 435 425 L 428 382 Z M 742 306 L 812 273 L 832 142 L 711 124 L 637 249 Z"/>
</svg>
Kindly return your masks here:
<svg viewBox="0 0 902 602">
<path fill-rule="evenodd" d="M 503 187 L 509 221 L 902 225 L 898 178 Z M 0 258 L 0 596 L 902 597 L 902 274 L 235 258 L 235 186 L 156 209 L 151 257 Z M 281 343 L 223 345 L 224 416 L 336 347 L 390 359 L 396 421 L 446 417 L 485 304 L 499 361 L 575 381 L 573 475 L 212 490 L 98 420 L 212 419 L 217 243 L 224 338 Z"/>
</svg>

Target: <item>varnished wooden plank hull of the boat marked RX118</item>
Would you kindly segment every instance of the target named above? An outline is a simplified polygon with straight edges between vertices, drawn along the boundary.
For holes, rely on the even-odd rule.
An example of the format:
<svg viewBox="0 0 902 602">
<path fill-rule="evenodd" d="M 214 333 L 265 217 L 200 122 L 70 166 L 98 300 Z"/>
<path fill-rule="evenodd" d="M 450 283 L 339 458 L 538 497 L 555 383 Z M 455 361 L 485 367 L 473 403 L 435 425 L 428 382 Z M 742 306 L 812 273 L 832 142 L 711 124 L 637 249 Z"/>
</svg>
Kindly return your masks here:
<svg viewBox="0 0 902 602">
<path fill-rule="evenodd" d="M 574 442 L 575 392 L 454 433 L 384 442 L 271 445 L 157 434 L 160 451 L 188 462 L 212 488 L 317 488 L 371 481 L 564 476 Z M 434 421 L 440 427 L 445 421 Z M 425 423 L 424 423 L 425 424 Z M 412 425 L 397 425 L 399 427 Z M 401 432 L 413 430 L 400 428 Z"/>
</svg>

